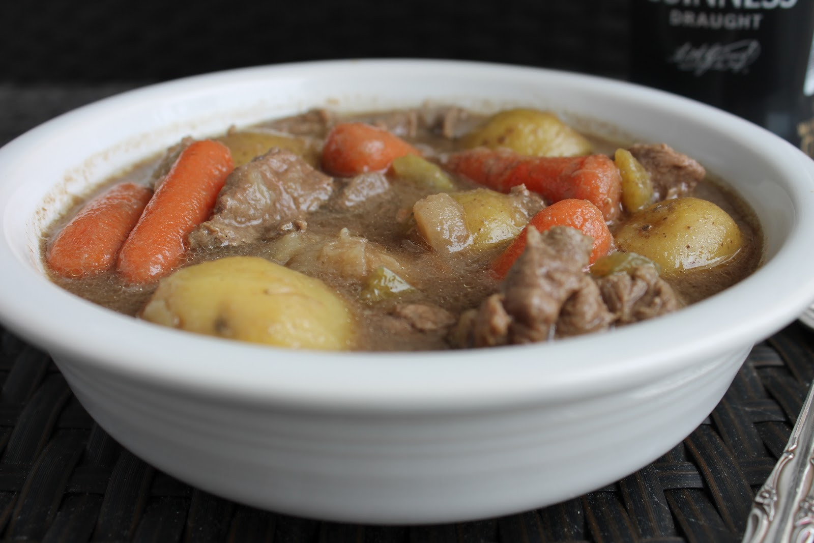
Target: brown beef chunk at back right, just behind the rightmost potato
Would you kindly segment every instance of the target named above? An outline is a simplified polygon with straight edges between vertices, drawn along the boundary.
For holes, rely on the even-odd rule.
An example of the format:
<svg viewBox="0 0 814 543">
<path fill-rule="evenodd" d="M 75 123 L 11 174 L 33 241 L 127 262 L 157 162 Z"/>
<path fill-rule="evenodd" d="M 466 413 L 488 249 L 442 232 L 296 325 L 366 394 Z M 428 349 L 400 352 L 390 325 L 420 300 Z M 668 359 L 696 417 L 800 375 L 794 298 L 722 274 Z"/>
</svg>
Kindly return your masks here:
<svg viewBox="0 0 814 543">
<path fill-rule="evenodd" d="M 629 151 L 650 172 L 656 200 L 688 195 L 707 174 L 701 164 L 665 143 L 638 144 Z"/>
</svg>

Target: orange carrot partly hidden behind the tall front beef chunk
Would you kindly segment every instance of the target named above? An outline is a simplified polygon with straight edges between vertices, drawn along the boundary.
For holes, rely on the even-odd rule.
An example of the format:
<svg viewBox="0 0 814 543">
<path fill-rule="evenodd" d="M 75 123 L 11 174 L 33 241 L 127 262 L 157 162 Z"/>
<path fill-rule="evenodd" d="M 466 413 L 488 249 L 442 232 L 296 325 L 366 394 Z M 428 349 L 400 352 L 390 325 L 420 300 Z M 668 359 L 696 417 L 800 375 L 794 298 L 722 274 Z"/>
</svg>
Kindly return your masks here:
<svg viewBox="0 0 814 543">
<path fill-rule="evenodd" d="M 534 226 L 540 232 L 545 232 L 554 226 L 571 226 L 581 230 L 583 234 L 593 238 L 590 263 L 593 264 L 610 250 L 613 236 L 605 224 L 605 218 L 597 206 L 584 199 L 562 199 L 543 208 L 538 212 L 522 232 L 514 239 L 509 247 L 492 262 L 492 269 L 498 277 L 504 278 L 514 261 L 526 248 L 526 230 Z"/>
</svg>

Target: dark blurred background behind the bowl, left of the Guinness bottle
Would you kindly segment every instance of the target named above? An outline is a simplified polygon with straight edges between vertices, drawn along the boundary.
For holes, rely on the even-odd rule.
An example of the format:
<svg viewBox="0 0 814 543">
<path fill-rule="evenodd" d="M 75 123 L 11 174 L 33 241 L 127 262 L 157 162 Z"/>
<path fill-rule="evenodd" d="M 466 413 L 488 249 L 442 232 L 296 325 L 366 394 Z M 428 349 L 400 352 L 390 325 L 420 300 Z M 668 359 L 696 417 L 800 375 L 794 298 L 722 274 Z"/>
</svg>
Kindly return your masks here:
<svg viewBox="0 0 814 543">
<path fill-rule="evenodd" d="M 473 59 L 627 77 L 629 0 L 0 2 L 0 84 L 164 81 L 315 59 Z"/>
</svg>

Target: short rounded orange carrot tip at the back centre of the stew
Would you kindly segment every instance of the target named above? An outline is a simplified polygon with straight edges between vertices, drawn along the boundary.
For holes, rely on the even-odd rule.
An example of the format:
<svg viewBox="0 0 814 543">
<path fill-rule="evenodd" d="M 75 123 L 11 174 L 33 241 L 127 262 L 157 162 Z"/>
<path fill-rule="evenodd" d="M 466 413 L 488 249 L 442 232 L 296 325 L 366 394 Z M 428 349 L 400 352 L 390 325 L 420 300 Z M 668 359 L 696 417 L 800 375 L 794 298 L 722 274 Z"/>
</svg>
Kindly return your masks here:
<svg viewBox="0 0 814 543">
<path fill-rule="evenodd" d="M 359 122 L 340 123 L 330 130 L 322 147 L 322 169 L 331 175 L 352 177 L 384 171 L 393 159 L 420 154 L 387 130 Z"/>
</svg>

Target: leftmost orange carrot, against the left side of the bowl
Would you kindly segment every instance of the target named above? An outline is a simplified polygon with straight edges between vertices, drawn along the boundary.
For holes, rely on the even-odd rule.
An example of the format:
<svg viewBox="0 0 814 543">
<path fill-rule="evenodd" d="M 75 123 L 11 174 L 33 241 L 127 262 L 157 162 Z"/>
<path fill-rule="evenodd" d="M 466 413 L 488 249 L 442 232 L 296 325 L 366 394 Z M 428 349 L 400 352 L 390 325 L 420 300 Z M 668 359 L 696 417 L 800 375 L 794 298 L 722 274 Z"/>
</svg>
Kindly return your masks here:
<svg viewBox="0 0 814 543">
<path fill-rule="evenodd" d="M 46 251 L 50 269 L 66 278 L 112 269 L 151 196 L 147 186 L 120 183 L 91 199 L 50 243 Z"/>
</svg>

